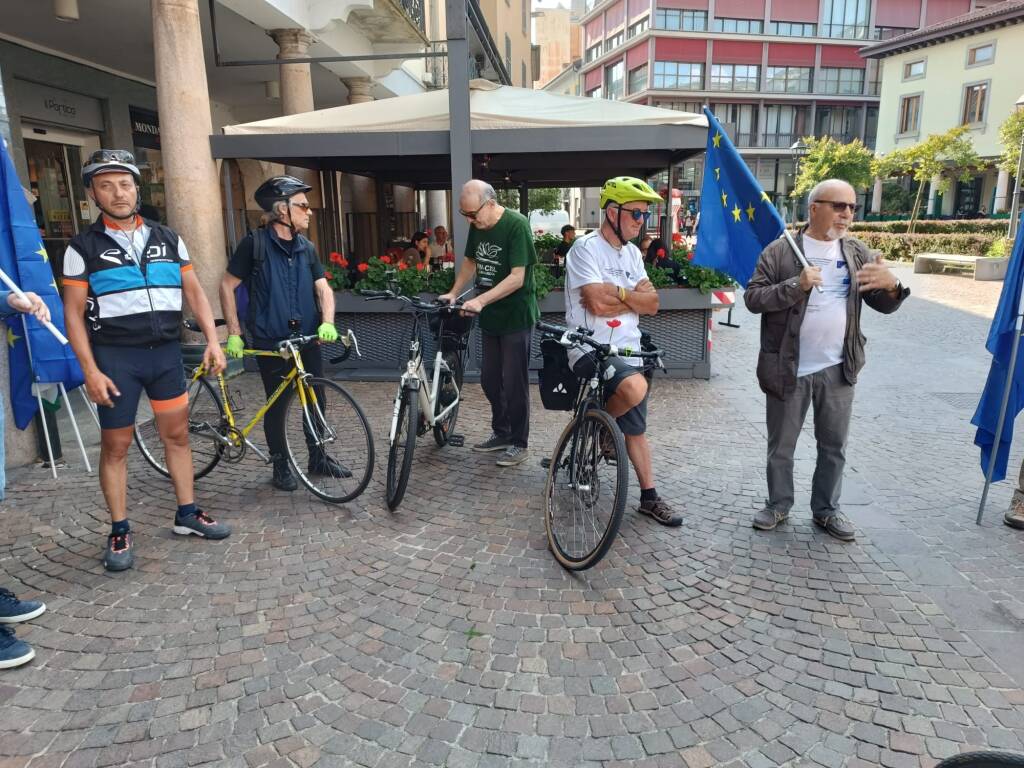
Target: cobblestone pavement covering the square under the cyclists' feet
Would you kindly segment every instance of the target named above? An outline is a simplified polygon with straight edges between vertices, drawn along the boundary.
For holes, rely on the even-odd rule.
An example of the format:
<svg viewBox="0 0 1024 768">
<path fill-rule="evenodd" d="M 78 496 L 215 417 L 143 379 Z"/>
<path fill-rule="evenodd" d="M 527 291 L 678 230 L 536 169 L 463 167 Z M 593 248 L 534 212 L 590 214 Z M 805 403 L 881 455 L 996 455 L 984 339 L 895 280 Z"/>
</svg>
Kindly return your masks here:
<svg viewBox="0 0 1024 768">
<path fill-rule="evenodd" d="M 611 553 L 579 575 L 545 548 L 538 460 L 563 416 L 539 401 L 529 462 L 423 440 L 394 514 L 380 460 L 343 507 L 272 490 L 252 460 L 218 468 L 199 500 L 234 525 L 225 542 L 173 537 L 169 485 L 133 458 L 139 557 L 121 574 L 99 562 L 94 478 L 14 473 L 0 584 L 49 610 L 18 631 L 37 658 L 0 673 L 0 766 L 902 768 L 1024 749 L 1024 536 L 1000 523 L 1009 482 L 974 524 L 968 424 L 998 286 L 901 276 L 904 308 L 865 312 L 852 545 L 809 524 L 810 432 L 792 521 L 750 527 L 765 430 L 742 310 L 716 326 L 710 382 L 652 395 L 685 525 L 633 513 L 634 483 Z M 351 389 L 380 447 L 391 385 Z M 471 387 L 467 444 L 483 406 Z"/>
</svg>

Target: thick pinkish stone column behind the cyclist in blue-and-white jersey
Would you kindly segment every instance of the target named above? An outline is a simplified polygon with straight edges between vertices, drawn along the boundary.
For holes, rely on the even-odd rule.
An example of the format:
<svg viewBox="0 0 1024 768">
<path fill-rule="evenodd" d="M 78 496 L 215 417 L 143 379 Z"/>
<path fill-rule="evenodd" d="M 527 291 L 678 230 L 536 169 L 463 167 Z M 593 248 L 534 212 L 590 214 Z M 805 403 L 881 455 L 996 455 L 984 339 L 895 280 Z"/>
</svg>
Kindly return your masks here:
<svg viewBox="0 0 1024 768">
<path fill-rule="evenodd" d="M 184 240 L 214 316 L 219 316 L 217 287 L 227 246 L 220 179 L 210 155 L 213 122 L 199 0 L 153 0 L 153 48 L 167 218 Z"/>
</svg>

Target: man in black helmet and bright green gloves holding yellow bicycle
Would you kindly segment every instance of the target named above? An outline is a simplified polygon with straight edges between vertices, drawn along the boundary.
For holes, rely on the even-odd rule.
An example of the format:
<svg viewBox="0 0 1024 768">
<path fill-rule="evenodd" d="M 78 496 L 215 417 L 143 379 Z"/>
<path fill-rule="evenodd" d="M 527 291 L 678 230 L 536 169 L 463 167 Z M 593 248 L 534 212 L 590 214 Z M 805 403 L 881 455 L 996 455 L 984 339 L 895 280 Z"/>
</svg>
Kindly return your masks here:
<svg viewBox="0 0 1024 768">
<path fill-rule="evenodd" d="M 276 349 L 291 336 L 338 340 L 334 327 L 334 291 L 328 285 L 316 249 L 303 236 L 312 212 L 306 193 L 312 187 L 294 176 L 273 176 L 256 189 L 259 207 L 266 212 L 265 225 L 249 232 L 227 264 L 220 282 L 220 306 L 227 324 L 227 356 L 242 357 L 242 325 L 234 289 L 245 283 L 249 293 L 246 330 L 256 349 Z M 263 389 L 272 394 L 292 370 L 283 357 L 256 358 Z M 302 350 L 302 365 L 313 376 L 324 373 L 319 346 Z M 288 464 L 285 443 L 286 398 L 279 397 L 263 418 L 263 433 L 273 460 L 274 487 L 295 490 L 298 482 Z M 311 440 L 308 440 L 311 443 Z M 319 449 L 310 444 L 308 471 L 312 474 L 349 477 L 351 473 Z"/>
</svg>

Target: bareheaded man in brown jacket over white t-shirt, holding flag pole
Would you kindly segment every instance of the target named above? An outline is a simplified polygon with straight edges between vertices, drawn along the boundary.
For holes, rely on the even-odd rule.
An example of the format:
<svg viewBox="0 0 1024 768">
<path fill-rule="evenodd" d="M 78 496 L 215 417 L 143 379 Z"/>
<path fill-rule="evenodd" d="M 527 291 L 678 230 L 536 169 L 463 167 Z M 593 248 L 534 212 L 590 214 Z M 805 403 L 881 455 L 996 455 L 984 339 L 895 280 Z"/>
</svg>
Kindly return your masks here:
<svg viewBox="0 0 1024 768">
<path fill-rule="evenodd" d="M 743 301 L 762 314 L 758 383 L 767 398 L 768 499 L 754 527 L 771 530 L 790 516 L 793 465 L 808 409 L 814 407 L 817 463 L 811 484 L 814 523 L 840 541 L 854 539 L 840 511 L 853 389 L 864 365 L 861 302 L 896 311 L 909 290 L 863 243 L 849 237 L 857 195 L 828 179 L 808 196 L 809 221 L 796 242 L 808 266 L 779 239 L 761 253 Z"/>
</svg>

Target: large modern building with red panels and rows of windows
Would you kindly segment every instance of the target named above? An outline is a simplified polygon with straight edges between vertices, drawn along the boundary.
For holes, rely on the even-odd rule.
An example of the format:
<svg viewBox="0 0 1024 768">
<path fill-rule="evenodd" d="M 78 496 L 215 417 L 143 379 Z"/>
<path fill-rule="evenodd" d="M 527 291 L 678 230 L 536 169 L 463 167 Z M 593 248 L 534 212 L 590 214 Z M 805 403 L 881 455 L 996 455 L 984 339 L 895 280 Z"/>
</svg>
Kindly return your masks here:
<svg viewBox="0 0 1024 768">
<path fill-rule="evenodd" d="M 972 0 L 590 0 L 583 90 L 699 112 L 709 104 L 777 206 L 803 136 L 873 146 L 878 62 L 860 48 L 967 12 Z M 677 168 L 699 207 L 702 161 Z M 666 178 L 660 180 L 666 185 Z"/>
</svg>

